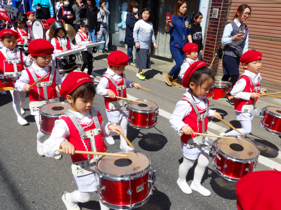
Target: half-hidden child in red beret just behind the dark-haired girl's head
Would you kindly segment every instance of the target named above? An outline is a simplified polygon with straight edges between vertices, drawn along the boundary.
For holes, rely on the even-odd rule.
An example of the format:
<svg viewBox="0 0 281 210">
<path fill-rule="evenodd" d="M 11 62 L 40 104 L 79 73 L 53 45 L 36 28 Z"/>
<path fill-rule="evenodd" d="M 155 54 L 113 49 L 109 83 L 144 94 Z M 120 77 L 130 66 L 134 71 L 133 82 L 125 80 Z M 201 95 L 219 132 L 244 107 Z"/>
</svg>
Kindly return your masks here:
<svg viewBox="0 0 281 210">
<path fill-rule="evenodd" d="M 183 48 L 184 53 L 186 54 L 186 59 L 184 60 L 184 63 L 181 66 L 180 71 L 180 79 L 183 79 L 184 73 L 189 68 L 189 66 L 198 60 L 198 45 L 196 43 L 190 43 L 184 45 Z M 180 84 L 174 84 L 176 87 L 181 87 Z"/>
</svg>

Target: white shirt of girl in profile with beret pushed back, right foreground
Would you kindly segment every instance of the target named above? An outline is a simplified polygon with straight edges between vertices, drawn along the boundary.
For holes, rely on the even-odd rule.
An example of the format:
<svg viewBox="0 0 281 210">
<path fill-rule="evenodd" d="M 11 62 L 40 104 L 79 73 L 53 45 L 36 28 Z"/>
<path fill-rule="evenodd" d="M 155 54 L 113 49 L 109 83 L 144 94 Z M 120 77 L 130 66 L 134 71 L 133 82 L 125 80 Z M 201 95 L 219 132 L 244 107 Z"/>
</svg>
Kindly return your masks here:
<svg viewBox="0 0 281 210">
<path fill-rule="evenodd" d="M 202 109 L 206 108 L 205 104 L 205 97 L 192 97 L 192 95 L 189 92 L 184 93 L 185 96 L 191 98 L 198 106 L 200 106 Z M 178 131 L 179 135 L 182 135 L 183 133 L 180 132 L 182 127 L 188 125 L 183 122 L 183 118 L 186 117 L 190 112 L 192 111 L 192 105 L 187 102 L 186 100 L 180 100 L 176 104 L 176 108 L 170 117 L 169 121 L 171 123 L 171 126 Z M 215 110 L 209 109 L 208 116 L 213 117 L 215 113 Z"/>
</svg>

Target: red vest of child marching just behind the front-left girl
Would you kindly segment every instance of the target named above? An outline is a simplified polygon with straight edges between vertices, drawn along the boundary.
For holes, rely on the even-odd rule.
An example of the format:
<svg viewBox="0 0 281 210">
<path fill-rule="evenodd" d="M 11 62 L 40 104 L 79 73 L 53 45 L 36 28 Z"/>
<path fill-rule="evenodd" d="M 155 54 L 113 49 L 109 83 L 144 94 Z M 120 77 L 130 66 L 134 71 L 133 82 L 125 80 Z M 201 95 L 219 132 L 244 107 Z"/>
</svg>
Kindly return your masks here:
<svg viewBox="0 0 281 210">
<path fill-rule="evenodd" d="M 29 75 L 29 83 L 30 84 L 33 84 L 35 82 L 35 80 L 33 79 L 29 69 L 27 68 L 26 69 L 28 75 Z M 49 66 L 49 71 L 51 71 L 51 66 Z M 37 78 L 40 79 L 42 76 L 39 76 L 38 74 L 37 75 Z M 55 70 L 55 73 L 54 73 L 54 79 L 53 79 L 53 83 L 52 83 L 52 86 L 47 86 L 47 92 L 48 92 L 48 99 L 51 99 L 51 98 L 55 98 L 55 97 L 58 97 L 57 95 L 57 91 L 56 91 L 56 70 Z M 44 79 L 42 79 L 40 82 L 43 82 L 43 81 L 49 81 L 50 79 L 50 74 L 48 76 L 46 76 Z M 44 91 L 43 91 L 43 87 L 37 87 L 37 85 L 34 85 L 31 90 L 28 92 L 29 94 L 29 100 L 30 101 L 41 101 L 41 100 L 45 100 L 44 98 Z"/>
</svg>

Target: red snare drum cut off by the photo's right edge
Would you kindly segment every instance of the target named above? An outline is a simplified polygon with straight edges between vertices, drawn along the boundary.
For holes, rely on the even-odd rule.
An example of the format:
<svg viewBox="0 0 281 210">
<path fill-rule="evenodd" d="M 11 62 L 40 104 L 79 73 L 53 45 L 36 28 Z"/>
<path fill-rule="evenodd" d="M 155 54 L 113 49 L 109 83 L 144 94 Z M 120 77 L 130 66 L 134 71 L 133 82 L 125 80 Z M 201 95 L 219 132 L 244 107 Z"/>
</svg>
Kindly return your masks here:
<svg viewBox="0 0 281 210">
<path fill-rule="evenodd" d="M 259 125 L 271 133 L 281 135 L 281 108 L 266 106 L 261 110 Z"/>
</svg>

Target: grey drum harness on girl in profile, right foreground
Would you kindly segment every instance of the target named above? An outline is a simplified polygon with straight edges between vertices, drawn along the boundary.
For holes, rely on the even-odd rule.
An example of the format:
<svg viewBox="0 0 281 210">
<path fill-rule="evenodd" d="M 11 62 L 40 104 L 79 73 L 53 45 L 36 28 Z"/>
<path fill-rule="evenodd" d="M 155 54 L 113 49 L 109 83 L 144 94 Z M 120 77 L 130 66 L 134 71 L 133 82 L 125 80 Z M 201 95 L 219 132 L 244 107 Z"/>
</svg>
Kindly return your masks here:
<svg viewBox="0 0 281 210">
<path fill-rule="evenodd" d="M 192 105 L 192 107 L 195 110 L 195 113 L 197 114 L 197 122 L 202 121 L 202 133 L 206 133 L 205 132 L 205 117 L 207 117 L 208 113 L 209 113 L 208 99 L 205 98 L 206 112 L 204 112 L 203 114 L 200 114 L 194 100 L 192 100 L 189 97 L 184 97 L 184 98 L 182 98 L 182 100 L 186 100 L 186 101 L 190 102 L 190 104 Z M 190 138 L 188 141 L 189 142 L 186 144 L 188 148 L 205 147 L 204 149 L 207 149 L 207 150 L 210 150 L 210 148 L 211 148 L 210 146 L 205 144 L 206 139 L 205 139 L 205 136 L 202 136 L 202 135 Z M 208 142 L 209 141 L 211 141 L 211 143 L 212 143 L 212 140 L 210 140 L 208 138 Z"/>
</svg>

